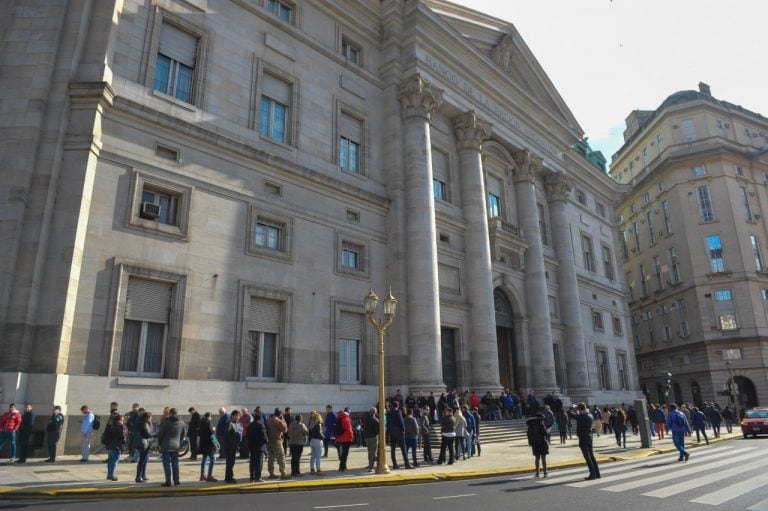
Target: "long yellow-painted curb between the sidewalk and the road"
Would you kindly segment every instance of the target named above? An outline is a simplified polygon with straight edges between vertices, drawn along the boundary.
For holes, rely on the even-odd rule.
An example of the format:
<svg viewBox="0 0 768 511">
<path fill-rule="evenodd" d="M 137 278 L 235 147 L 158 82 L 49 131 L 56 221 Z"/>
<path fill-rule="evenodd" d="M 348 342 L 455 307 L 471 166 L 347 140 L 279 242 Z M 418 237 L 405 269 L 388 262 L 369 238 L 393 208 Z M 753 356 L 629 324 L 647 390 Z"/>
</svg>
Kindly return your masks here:
<svg viewBox="0 0 768 511">
<path fill-rule="evenodd" d="M 739 437 L 713 438 L 710 444 L 735 440 Z M 703 447 L 699 444 L 691 444 L 689 449 Z M 641 448 L 641 450 L 627 453 L 626 456 L 618 455 L 597 455 L 599 463 L 613 463 L 619 461 L 638 460 L 669 454 L 676 452 L 674 447 L 664 448 Z M 583 459 L 574 459 L 549 464 L 549 470 L 574 468 L 584 465 Z M 498 477 L 505 475 L 527 474 L 533 471 L 530 465 L 515 466 L 503 469 L 489 470 L 470 470 L 466 472 L 453 472 L 447 474 L 414 474 L 414 475 L 365 475 L 336 479 L 315 479 L 315 480 L 291 480 L 283 482 L 265 482 L 265 483 L 239 483 L 239 484 L 219 484 L 216 486 L 178 486 L 163 488 L 156 486 L 148 488 L 146 486 L 125 486 L 125 487 L 93 487 L 86 486 L 80 488 L 55 488 L 45 487 L 39 489 L 15 488 L 9 486 L 0 486 L 0 500 L 102 500 L 111 498 L 156 498 L 156 497 L 190 497 L 196 495 L 232 495 L 232 494 L 253 494 L 253 493 L 276 493 L 276 492 L 296 492 L 313 490 L 338 490 L 343 488 L 367 488 L 373 486 L 399 486 L 402 484 L 423 484 L 440 481 L 461 481 L 465 479 L 482 479 L 488 477 Z"/>
</svg>

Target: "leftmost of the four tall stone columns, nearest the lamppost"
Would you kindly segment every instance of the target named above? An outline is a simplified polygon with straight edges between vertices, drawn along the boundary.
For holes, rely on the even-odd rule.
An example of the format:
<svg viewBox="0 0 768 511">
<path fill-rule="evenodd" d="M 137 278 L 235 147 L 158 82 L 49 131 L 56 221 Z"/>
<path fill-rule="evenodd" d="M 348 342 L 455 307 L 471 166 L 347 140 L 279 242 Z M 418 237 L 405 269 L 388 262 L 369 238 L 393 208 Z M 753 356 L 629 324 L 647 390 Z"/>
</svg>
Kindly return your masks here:
<svg viewBox="0 0 768 511">
<path fill-rule="evenodd" d="M 440 348 L 435 198 L 429 121 L 443 91 L 416 74 L 400 86 L 405 145 L 406 276 L 410 389 L 445 389 Z"/>
</svg>

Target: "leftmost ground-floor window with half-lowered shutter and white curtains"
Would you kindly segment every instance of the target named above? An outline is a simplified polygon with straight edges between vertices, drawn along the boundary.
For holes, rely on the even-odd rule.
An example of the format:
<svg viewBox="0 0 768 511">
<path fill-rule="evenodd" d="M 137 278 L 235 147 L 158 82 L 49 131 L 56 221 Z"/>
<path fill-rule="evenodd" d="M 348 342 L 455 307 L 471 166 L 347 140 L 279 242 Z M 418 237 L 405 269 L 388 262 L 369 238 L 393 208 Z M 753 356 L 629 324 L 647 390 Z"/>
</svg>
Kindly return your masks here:
<svg viewBox="0 0 768 511">
<path fill-rule="evenodd" d="M 119 371 L 162 377 L 173 285 L 128 278 Z"/>
</svg>

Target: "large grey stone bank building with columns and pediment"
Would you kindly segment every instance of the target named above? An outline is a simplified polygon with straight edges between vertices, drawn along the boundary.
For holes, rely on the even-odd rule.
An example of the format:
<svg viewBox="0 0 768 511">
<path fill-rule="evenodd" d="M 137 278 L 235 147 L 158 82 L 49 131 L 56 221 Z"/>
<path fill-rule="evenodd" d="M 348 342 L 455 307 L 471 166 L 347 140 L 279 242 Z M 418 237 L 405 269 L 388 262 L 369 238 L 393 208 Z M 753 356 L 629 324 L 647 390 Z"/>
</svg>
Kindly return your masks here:
<svg viewBox="0 0 768 511">
<path fill-rule="evenodd" d="M 619 186 L 511 24 L 6 3 L 0 402 L 362 409 L 389 285 L 393 389 L 639 395 Z"/>
</svg>

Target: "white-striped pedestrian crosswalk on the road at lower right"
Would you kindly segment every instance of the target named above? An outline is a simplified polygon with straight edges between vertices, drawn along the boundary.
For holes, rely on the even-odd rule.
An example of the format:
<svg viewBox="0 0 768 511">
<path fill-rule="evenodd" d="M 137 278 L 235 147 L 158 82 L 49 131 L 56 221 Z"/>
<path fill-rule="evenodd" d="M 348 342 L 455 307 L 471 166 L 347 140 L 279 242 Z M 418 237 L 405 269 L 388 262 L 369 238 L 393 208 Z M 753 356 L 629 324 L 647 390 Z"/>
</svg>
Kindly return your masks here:
<svg viewBox="0 0 768 511">
<path fill-rule="evenodd" d="M 768 478 L 764 449 L 753 444 L 728 443 L 690 451 L 688 462 L 676 453 L 640 460 L 603 464 L 600 479 L 584 480 L 584 467 L 551 471 L 542 485 L 564 485 L 605 492 L 633 492 L 642 497 L 683 498 L 691 503 L 736 509 L 734 502 L 749 502 L 749 511 L 768 511 Z M 750 500 L 751 499 L 751 500 Z M 765 500 L 762 500 L 765 499 Z"/>
</svg>

